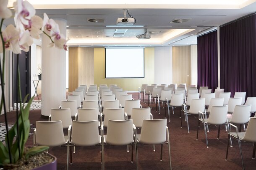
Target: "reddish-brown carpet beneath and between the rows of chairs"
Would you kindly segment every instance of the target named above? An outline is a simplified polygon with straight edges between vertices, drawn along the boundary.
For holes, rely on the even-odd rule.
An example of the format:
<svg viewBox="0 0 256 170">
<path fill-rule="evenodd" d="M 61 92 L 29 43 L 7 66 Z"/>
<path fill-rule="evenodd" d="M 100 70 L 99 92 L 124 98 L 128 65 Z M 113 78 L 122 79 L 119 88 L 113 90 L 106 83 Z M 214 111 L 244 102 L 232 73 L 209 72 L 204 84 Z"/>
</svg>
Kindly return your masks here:
<svg viewBox="0 0 256 170">
<path fill-rule="evenodd" d="M 133 98 L 138 99 L 138 94 L 133 93 Z M 141 101 L 143 107 L 144 104 Z M 155 112 L 155 104 L 152 104 L 153 119 L 164 118 L 165 110 L 161 108 L 161 114 Z M 204 128 L 201 125 L 199 129 L 199 140 L 196 141 L 197 119 L 189 116 L 190 133 L 188 133 L 186 124 L 183 121 L 183 128 L 180 128 L 179 108 L 175 109 L 175 114 L 171 113 L 171 122 L 167 121 L 170 134 L 171 159 L 173 170 L 241 170 L 242 164 L 238 143 L 232 140 L 233 148 L 230 147 L 228 160 L 225 161 L 227 148 L 227 132 L 225 127 L 221 127 L 220 139 L 217 140 L 217 127 L 209 126 L 208 142 L 209 148 L 206 148 Z M 35 124 L 36 120 L 41 118 L 41 110 L 32 110 L 30 113 L 30 122 Z M 11 123 L 15 121 L 14 112 L 8 113 L 8 119 Z M 0 122 L 4 122 L 3 115 L 0 116 Z M 33 125 L 34 126 L 34 125 Z M 31 130 L 32 132 L 32 130 Z M 32 145 L 32 137 L 29 137 L 26 145 Z M 256 160 L 252 160 L 253 144 L 242 143 L 243 159 L 246 170 L 256 170 Z M 66 168 L 67 148 L 50 148 L 50 153 L 57 157 L 58 170 Z M 131 152 L 126 152 L 126 146 L 107 146 L 104 147 L 104 160 L 106 170 L 132 170 L 136 169 L 136 162 L 131 163 Z M 135 155 L 134 155 L 135 156 Z M 156 146 L 156 152 L 153 152 L 152 145 L 138 145 L 138 165 L 140 170 L 168 170 L 168 149 L 167 145 L 163 147 L 163 161 L 160 162 L 160 146 Z M 69 165 L 70 170 L 99 170 L 101 168 L 101 157 L 99 147 L 76 147 L 76 153 L 73 154 L 73 165 Z"/>
</svg>

